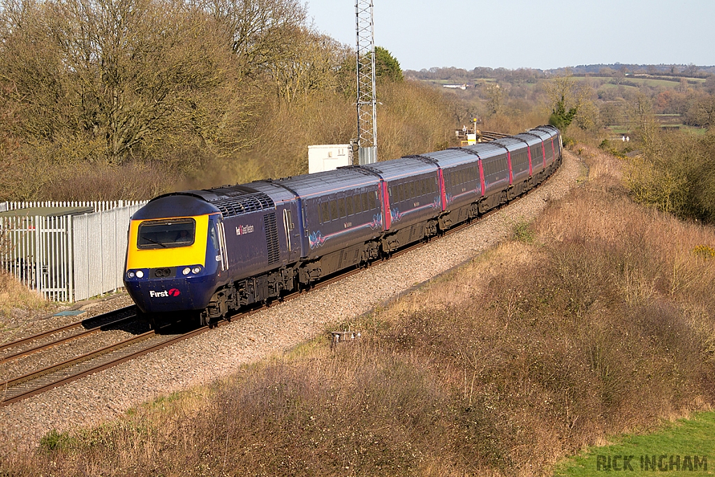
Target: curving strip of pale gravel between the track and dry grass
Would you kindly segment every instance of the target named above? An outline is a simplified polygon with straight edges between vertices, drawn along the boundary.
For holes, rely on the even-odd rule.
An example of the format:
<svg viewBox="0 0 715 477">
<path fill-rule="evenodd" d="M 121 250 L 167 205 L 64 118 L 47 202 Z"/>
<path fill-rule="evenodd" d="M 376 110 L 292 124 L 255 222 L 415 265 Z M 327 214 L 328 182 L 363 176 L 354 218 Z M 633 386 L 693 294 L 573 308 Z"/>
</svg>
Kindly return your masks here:
<svg viewBox="0 0 715 477">
<path fill-rule="evenodd" d="M 102 423 L 146 400 L 289 350 L 327 325 L 358 318 L 508 237 L 516 223 L 533 220 L 548 200 L 566 195 L 581 171 L 581 162 L 564 152 L 562 167 L 546 184 L 460 232 L 192 340 L 0 408 L 0 451 L 32 448 L 53 428 Z"/>
</svg>

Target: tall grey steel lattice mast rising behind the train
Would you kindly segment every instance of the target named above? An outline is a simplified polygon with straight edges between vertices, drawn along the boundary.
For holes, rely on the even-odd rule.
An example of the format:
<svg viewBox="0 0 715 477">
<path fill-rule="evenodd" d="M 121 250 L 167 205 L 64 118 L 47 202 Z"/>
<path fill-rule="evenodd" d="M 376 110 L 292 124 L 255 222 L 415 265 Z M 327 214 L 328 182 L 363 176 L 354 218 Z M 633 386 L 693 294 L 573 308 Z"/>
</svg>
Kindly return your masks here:
<svg viewBox="0 0 715 477">
<path fill-rule="evenodd" d="M 378 115 L 375 97 L 375 23 L 373 0 L 355 0 L 358 43 L 358 162 L 378 162 Z"/>
</svg>

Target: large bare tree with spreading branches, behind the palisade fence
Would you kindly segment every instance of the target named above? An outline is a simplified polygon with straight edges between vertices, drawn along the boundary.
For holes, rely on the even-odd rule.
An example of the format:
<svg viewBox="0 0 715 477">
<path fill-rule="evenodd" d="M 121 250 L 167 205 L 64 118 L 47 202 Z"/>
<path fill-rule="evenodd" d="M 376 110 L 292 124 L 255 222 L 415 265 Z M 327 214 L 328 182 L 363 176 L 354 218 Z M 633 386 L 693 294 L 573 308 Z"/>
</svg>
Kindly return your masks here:
<svg viewBox="0 0 715 477">
<path fill-rule="evenodd" d="M 0 81 L 14 87 L 26 139 L 81 144 L 78 159 L 112 164 L 180 144 L 242 145 L 235 55 L 205 11 L 180 0 L 4 1 Z"/>
</svg>

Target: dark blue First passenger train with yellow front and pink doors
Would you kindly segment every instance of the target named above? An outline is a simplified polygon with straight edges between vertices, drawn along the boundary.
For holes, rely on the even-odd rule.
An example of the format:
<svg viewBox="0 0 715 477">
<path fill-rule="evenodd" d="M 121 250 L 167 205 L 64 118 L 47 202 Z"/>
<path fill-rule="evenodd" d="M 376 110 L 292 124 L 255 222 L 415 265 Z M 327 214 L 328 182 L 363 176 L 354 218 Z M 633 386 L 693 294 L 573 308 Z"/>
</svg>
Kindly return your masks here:
<svg viewBox="0 0 715 477">
<path fill-rule="evenodd" d="M 124 286 L 149 315 L 203 325 L 430 240 L 537 187 L 555 127 L 361 166 L 150 200 L 129 223 Z"/>
</svg>

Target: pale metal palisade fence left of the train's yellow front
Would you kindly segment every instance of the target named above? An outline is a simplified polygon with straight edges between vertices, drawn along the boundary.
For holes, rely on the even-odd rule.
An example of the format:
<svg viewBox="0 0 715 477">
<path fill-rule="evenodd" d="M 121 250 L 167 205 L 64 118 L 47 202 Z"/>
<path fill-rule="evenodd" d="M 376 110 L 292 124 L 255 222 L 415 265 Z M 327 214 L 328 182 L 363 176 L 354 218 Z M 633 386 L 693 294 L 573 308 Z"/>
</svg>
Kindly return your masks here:
<svg viewBox="0 0 715 477">
<path fill-rule="evenodd" d="M 122 287 L 129 219 L 145 203 L 0 202 L 0 213 L 28 207 L 94 210 L 1 216 L 0 268 L 49 300 L 73 302 L 117 290 Z"/>
</svg>

